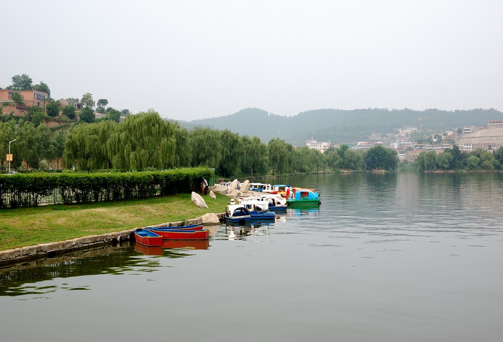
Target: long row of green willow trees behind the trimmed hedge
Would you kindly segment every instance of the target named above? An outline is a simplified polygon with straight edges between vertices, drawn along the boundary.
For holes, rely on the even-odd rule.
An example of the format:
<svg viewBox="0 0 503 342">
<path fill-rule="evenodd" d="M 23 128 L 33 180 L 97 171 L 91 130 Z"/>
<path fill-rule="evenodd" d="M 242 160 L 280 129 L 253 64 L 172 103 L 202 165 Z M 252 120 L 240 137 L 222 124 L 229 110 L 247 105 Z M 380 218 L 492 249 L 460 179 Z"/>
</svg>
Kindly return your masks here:
<svg viewBox="0 0 503 342">
<path fill-rule="evenodd" d="M 75 127 L 51 134 L 45 125 L 14 120 L 0 123 L 0 162 L 7 166 L 5 155 L 9 141 L 14 161 L 11 167 L 57 167 L 77 170 L 147 170 L 206 166 L 221 177 L 312 173 L 347 168 L 394 170 L 396 152 L 376 146 L 367 152 L 347 145 L 321 153 L 307 147 L 294 147 L 282 139 L 269 143 L 258 137 L 240 136 L 229 130 L 195 127 L 191 131 L 176 121 L 163 120 L 153 110 L 127 115 L 126 119 L 79 123 Z M 3 158 L 3 159 L 2 159 Z"/>
</svg>

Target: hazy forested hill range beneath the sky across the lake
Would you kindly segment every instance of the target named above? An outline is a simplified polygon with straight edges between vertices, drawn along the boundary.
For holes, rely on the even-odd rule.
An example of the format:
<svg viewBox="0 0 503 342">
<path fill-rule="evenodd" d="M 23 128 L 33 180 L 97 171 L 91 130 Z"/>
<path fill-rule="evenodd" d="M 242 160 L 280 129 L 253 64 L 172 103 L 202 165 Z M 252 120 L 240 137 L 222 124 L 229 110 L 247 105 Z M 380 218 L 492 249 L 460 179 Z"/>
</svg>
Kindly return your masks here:
<svg viewBox="0 0 503 342">
<path fill-rule="evenodd" d="M 186 128 L 209 126 L 229 129 L 239 135 L 258 136 L 267 143 L 279 137 L 294 145 L 304 145 L 306 140 L 332 143 L 353 143 L 366 140 L 371 133 L 390 133 L 400 127 L 418 127 L 422 118 L 423 131 L 443 131 L 466 125 L 483 126 L 489 120 L 503 119 L 495 109 L 442 111 L 427 109 L 318 109 L 286 117 L 270 114 L 258 108 L 243 109 L 235 114 L 193 121 L 180 121 Z"/>
</svg>

